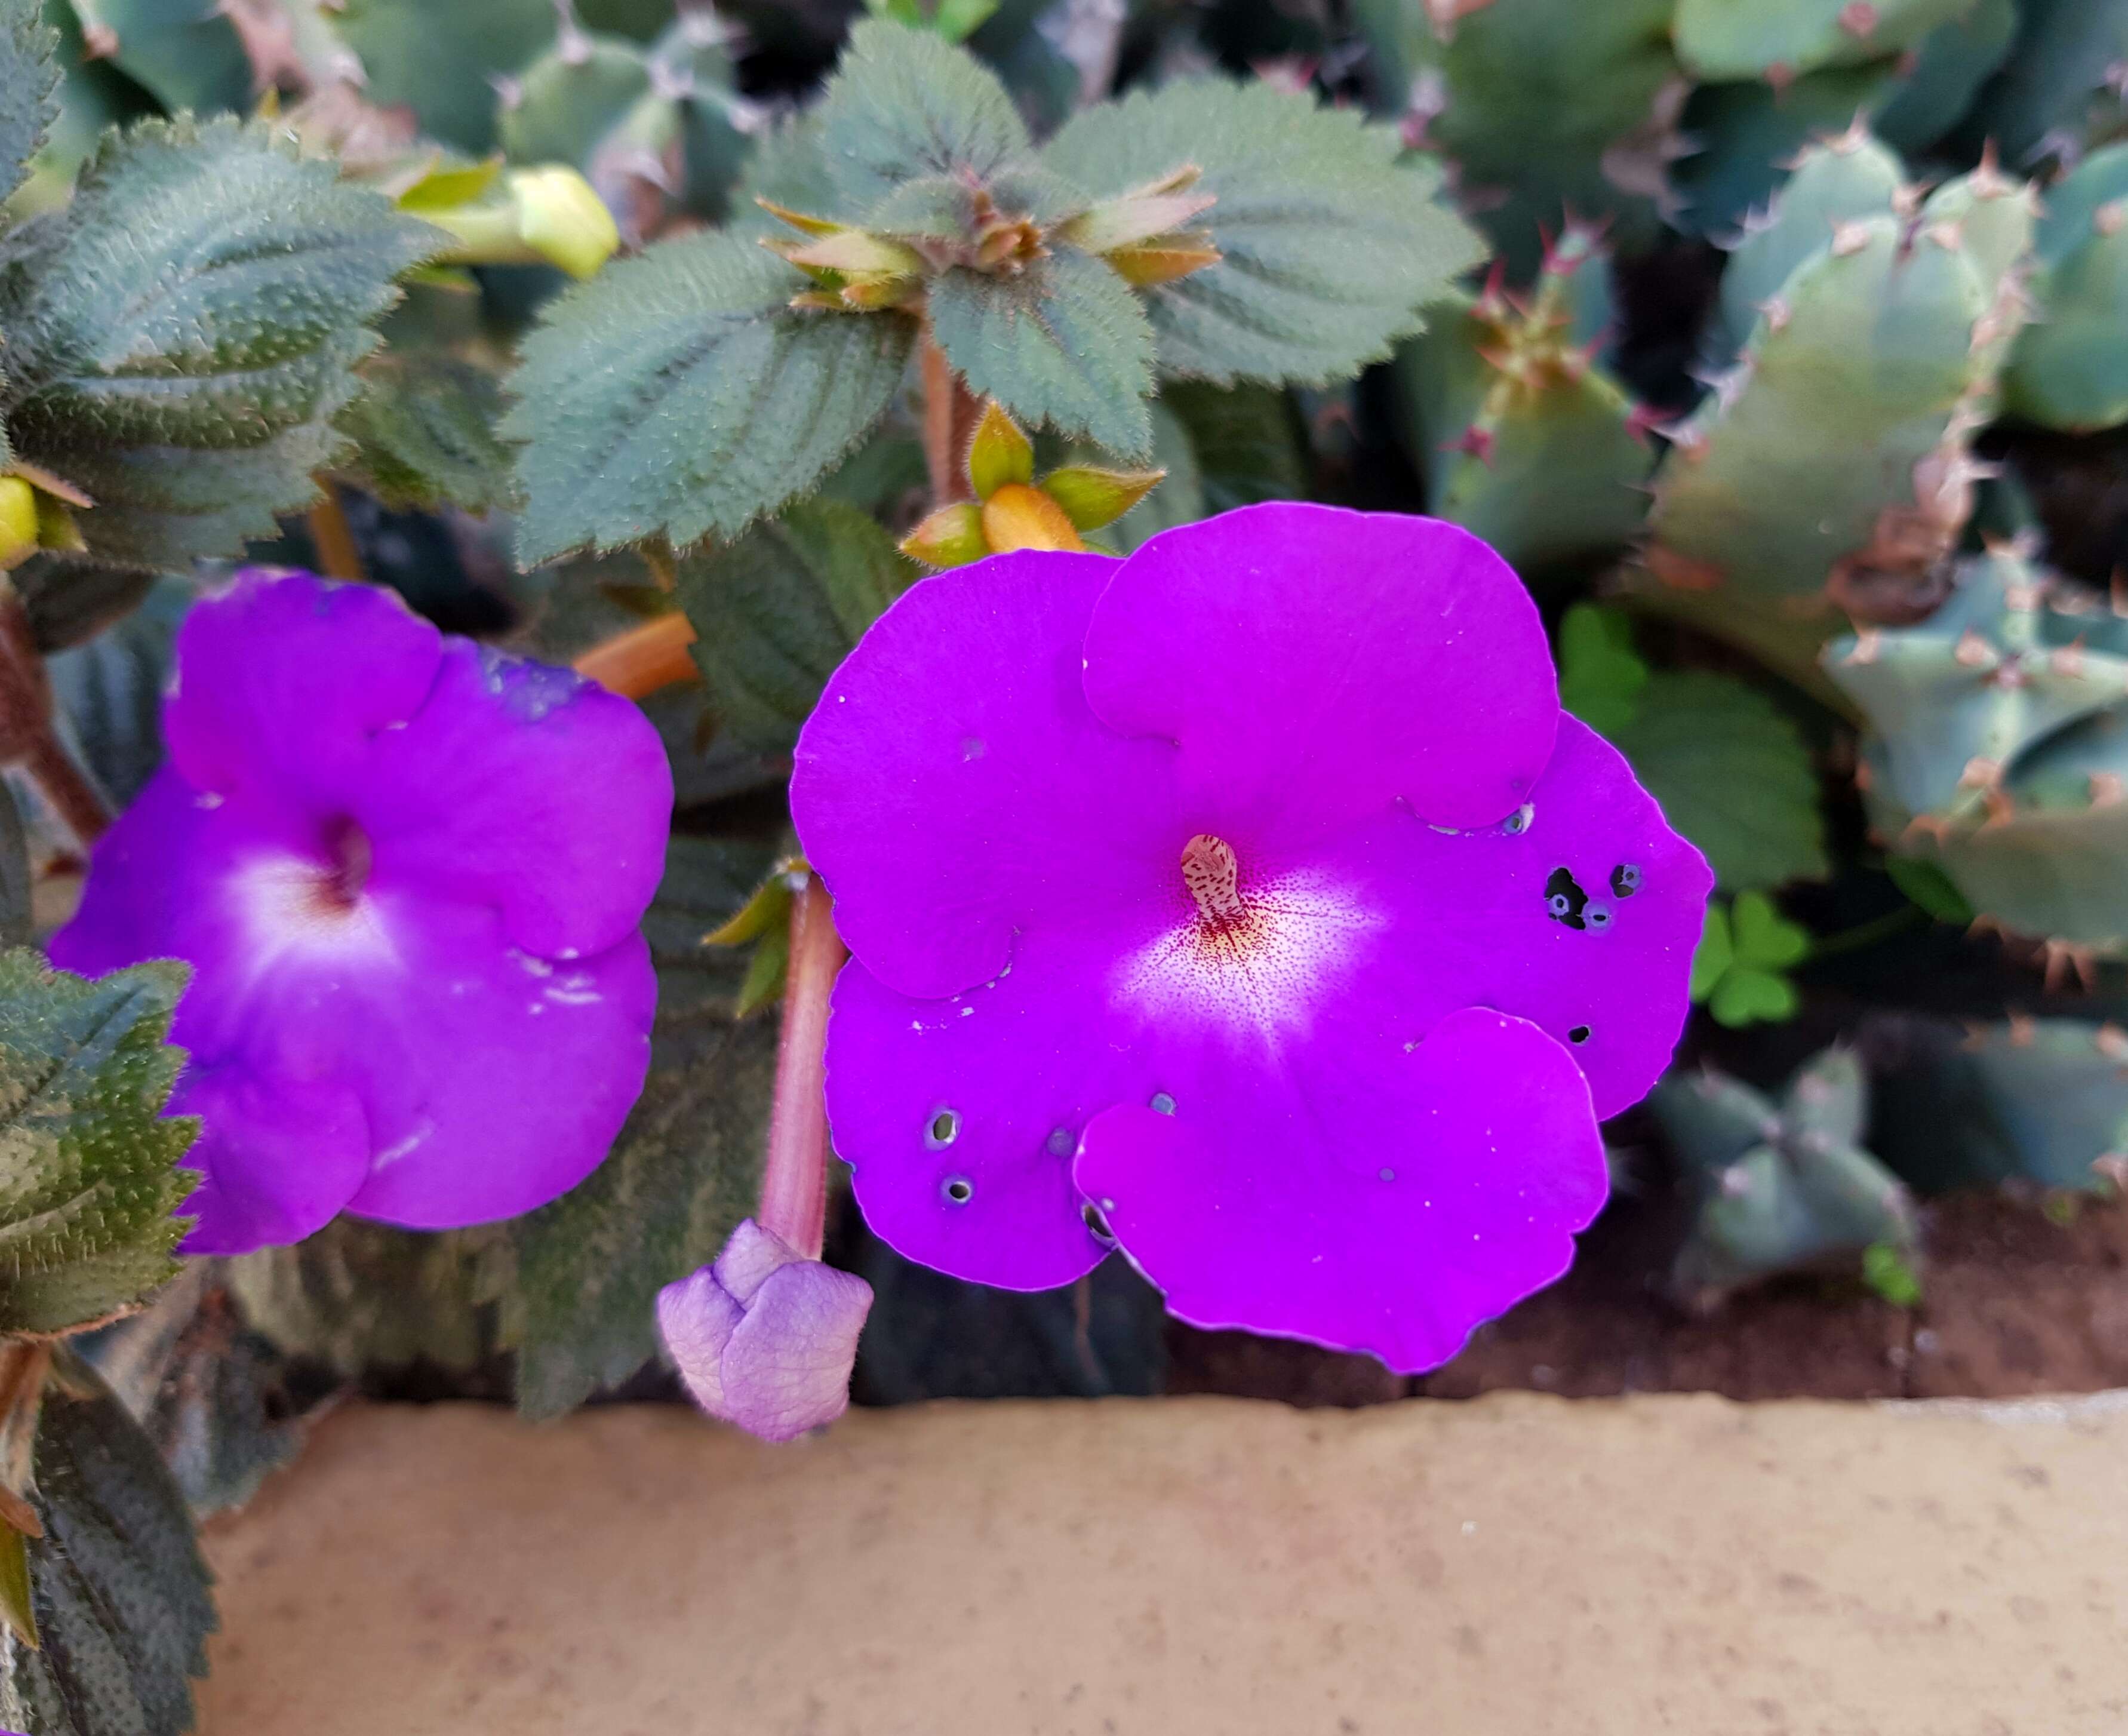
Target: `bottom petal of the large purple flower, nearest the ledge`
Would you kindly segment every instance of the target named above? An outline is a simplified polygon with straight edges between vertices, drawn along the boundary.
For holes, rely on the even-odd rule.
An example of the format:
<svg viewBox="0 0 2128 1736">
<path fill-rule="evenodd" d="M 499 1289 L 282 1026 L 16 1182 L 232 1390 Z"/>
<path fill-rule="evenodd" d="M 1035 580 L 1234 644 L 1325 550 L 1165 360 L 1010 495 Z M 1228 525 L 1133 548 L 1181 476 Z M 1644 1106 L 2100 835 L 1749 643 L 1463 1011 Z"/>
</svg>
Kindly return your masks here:
<svg viewBox="0 0 2128 1736">
<path fill-rule="evenodd" d="M 1183 1076 L 1173 1102 L 1094 1117 L 1075 1166 L 1168 1311 L 1400 1372 L 1560 1276 L 1605 1198 L 1587 1083 L 1498 1013 L 1396 1064 L 1311 1045 L 1290 1070 Z"/>
</svg>

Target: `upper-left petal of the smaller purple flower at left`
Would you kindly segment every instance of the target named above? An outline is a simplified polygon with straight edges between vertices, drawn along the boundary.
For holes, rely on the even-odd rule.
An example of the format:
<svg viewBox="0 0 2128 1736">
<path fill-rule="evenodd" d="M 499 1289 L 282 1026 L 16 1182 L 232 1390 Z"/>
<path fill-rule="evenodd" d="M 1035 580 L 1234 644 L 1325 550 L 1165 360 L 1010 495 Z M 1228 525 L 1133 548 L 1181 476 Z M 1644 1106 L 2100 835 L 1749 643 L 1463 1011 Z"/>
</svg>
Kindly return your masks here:
<svg viewBox="0 0 2128 1736">
<path fill-rule="evenodd" d="M 440 655 L 443 634 L 394 591 L 245 568 L 177 632 L 170 764 L 194 789 L 330 819 L 377 734 L 421 708 Z"/>
</svg>

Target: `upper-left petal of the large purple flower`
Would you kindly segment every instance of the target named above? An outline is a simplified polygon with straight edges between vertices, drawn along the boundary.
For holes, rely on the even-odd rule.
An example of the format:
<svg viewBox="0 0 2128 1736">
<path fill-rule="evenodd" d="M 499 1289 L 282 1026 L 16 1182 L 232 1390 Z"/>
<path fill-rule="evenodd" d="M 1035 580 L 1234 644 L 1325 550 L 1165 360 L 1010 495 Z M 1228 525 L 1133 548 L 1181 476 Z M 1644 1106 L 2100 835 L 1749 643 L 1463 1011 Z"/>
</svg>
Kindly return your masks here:
<svg viewBox="0 0 2128 1736">
<path fill-rule="evenodd" d="M 1115 572 L 1028 551 L 924 579 L 821 694 L 792 821 L 881 983 L 966 989 L 1004 968 L 1015 930 L 1175 877 L 1173 749 L 1104 730 L 1079 685 Z"/>
</svg>

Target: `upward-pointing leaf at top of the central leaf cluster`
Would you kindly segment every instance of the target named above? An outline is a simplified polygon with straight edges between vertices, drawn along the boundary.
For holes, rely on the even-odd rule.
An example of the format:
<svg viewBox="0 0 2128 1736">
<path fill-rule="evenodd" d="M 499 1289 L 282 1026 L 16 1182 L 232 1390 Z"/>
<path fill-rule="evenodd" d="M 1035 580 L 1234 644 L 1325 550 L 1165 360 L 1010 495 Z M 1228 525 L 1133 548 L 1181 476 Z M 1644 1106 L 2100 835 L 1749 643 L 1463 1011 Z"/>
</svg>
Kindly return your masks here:
<svg viewBox="0 0 2128 1736">
<path fill-rule="evenodd" d="M 928 30 L 866 19 L 819 102 L 828 172 L 851 221 L 909 181 L 990 181 L 1028 149 L 1004 85 Z"/>
</svg>

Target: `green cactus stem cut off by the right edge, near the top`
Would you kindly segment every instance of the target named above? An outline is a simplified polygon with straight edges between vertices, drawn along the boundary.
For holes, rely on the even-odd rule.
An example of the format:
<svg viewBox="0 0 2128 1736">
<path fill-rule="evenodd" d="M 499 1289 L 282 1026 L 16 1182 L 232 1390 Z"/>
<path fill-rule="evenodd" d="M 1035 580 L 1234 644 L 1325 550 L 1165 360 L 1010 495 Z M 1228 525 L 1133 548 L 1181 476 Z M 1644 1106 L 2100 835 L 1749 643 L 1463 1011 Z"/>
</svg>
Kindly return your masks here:
<svg viewBox="0 0 2128 1736">
<path fill-rule="evenodd" d="M 2047 189 L 2032 247 L 2039 315 L 2017 334 L 2005 404 L 2071 432 L 2128 421 L 2128 145 Z"/>
</svg>

